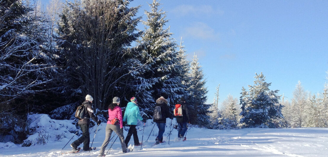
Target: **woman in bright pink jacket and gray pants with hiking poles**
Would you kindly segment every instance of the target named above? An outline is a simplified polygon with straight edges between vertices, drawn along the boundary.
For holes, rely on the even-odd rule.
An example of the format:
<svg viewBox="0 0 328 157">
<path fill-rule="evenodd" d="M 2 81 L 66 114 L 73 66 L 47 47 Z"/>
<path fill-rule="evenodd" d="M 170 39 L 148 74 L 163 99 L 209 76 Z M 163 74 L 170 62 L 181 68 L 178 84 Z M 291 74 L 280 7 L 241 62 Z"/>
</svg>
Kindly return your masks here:
<svg viewBox="0 0 328 157">
<path fill-rule="evenodd" d="M 108 121 L 106 125 L 105 140 L 101 145 L 99 156 L 105 156 L 104 152 L 109 140 L 111 139 L 113 131 L 120 138 L 123 153 L 130 152 L 130 149 L 128 149 L 124 143 L 122 110 L 118 105 L 120 105 L 120 98 L 114 97 L 113 103 L 108 106 Z"/>
</svg>

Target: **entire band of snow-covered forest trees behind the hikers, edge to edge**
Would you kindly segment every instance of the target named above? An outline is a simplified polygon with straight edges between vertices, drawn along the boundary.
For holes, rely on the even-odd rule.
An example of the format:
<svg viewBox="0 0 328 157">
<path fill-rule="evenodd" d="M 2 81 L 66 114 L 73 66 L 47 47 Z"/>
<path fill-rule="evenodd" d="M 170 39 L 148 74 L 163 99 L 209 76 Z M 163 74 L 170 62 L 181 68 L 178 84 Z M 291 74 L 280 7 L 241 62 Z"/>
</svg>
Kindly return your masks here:
<svg viewBox="0 0 328 157">
<path fill-rule="evenodd" d="M 328 84 L 312 95 L 299 82 L 288 102 L 262 72 L 240 87 L 239 99 L 228 96 L 218 109 L 218 85 L 206 104 L 206 74 L 196 55 L 186 58 L 182 39 L 172 38 L 161 4 L 153 0 L 141 18 L 140 6 L 129 3 L 51 0 L 45 9 L 38 1 L 0 0 L 0 142 L 22 143 L 30 114 L 75 119 L 87 94 L 103 122 L 115 96 L 123 111 L 136 97 L 150 116 L 164 96 L 172 112 L 184 97 L 190 123 L 208 129 L 328 126 Z"/>
</svg>

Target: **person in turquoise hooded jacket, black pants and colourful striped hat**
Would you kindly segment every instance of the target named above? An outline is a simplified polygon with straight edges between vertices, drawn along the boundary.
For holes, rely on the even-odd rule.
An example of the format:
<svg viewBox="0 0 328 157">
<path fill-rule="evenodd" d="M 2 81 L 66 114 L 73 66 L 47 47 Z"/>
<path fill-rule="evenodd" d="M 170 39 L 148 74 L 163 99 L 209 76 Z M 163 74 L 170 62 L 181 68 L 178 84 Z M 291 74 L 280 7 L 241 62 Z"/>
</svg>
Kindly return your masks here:
<svg viewBox="0 0 328 157">
<path fill-rule="evenodd" d="M 138 119 L 144 123 L 146 122 L 146 118 L 140 116 L 140 110 L 137 104 L 137 99 L 135 97 L 131 97 L 130 100 L 131 102 L 129 102 L 126 106 L 123 117 L 123 123 L 126 122 L 126 124 L 130 127 L 128 135 L 125 138 L 126 147 L 128 147 L 132 135 L 134 146 L 140 146 L 137 130 L 135 129 L 135 127 L 137 125 Z"/>
</svg>

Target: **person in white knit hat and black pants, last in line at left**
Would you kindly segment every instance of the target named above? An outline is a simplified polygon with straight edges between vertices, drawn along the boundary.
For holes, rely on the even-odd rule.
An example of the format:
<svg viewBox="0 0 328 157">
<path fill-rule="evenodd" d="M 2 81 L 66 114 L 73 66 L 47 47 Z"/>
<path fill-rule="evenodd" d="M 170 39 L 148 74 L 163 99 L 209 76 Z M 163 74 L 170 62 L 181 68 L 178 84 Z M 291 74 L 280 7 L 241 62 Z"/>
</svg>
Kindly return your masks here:
<svg viewBox="0 0 328 157">
<path fill-rule="evenodd" d="M 89 147 L 90 144 L 90 133 L 89 133 L 89 125 L 90 125 L 90 118 L 92 118 L 93 121 L 99 125 L 101 123 L 100 120 L 94 115 L 93 113 L 93 108 L 92 108 L 92 96 L 87 95 L 85 96 L 85 101 L 82 103 L 84 104 L 85 111 L 87 114 L 85 117 L 81 120 L 78 121 L 78 125 L 82 130 L 82 136 L 75 140 L 72 144 L 71 147 L 73 148 L 73 151 L 78 151 L 78 146 L 83 142 L 83 150 L 84 151 L 90 151 L 92 148 Z"/>
</svg>

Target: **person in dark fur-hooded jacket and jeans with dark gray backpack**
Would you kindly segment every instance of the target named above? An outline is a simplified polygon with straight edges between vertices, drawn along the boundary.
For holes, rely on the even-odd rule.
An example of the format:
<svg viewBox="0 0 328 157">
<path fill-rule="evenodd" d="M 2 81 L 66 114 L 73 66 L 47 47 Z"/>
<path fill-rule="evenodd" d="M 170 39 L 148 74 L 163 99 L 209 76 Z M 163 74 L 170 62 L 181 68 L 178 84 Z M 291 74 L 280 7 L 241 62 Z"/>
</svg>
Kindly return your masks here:
<svg viewBox="0 0 328 157">
<path fill-rule="evenodd" d="M 157 106 L 159 107 L 160 112 L 158 112 L 159 109 Z M 173 115 L 169 112 L 167 100 L 163 96 L 156 100 L 153 118 L 153 121 L 158 127 L 158 136 L 155 139 L 156 145 L 159 143 L 164 143 L 165 141 L 163 141 L 163 133 L 165 131 L 166 118 L 173 119 Z"/>
</svg>

